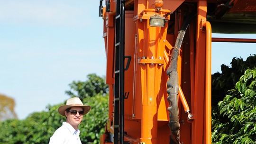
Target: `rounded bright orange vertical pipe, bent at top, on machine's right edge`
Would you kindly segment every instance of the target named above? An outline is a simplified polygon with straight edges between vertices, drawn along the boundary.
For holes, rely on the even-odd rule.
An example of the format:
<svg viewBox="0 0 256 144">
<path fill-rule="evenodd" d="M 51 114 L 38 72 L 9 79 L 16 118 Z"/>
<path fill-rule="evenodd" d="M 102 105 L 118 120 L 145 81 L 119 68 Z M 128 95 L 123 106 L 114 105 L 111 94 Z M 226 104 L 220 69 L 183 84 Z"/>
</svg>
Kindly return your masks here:
<svg viewBox="0 0 256 144">
<path fill-rule="evenodd" d="M 206 27 L 206 80 L 205 80 L 205 117 L 206 117 L 206 144 L 211 144 L 211 26 Z"/>
</svg>

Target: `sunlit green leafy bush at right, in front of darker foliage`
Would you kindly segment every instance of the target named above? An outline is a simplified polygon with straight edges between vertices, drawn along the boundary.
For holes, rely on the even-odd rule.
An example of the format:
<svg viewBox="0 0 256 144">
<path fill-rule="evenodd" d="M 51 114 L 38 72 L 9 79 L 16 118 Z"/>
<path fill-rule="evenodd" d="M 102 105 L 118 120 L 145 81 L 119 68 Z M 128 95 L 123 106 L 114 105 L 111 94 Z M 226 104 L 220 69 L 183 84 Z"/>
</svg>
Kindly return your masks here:
<svg viewBox="0 0 256 144">
<path fill-rule="evenodd" d="M 219 101 L 212 117 L 213 144 L 256 144 L 256 68 L 247 69 Z"/>
</svg>

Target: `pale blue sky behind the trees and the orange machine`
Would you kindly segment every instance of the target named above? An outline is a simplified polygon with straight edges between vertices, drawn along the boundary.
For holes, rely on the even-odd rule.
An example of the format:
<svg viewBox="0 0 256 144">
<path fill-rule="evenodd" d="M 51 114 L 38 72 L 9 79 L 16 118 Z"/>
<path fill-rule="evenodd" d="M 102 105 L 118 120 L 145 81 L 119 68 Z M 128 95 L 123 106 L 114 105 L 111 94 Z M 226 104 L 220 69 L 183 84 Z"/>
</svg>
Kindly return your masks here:
<svg viewBox="0 0 256 144">
<path fill-rule="evenodd" d="M 72 81 L 105 75 L 99 1 L 0 0 L 0 93 L 15 99 L 18 118 L 64 102 Z M 252 47 L 212 43 L 212 73 L 235 56 L 256 54 Z"/>
</svg>

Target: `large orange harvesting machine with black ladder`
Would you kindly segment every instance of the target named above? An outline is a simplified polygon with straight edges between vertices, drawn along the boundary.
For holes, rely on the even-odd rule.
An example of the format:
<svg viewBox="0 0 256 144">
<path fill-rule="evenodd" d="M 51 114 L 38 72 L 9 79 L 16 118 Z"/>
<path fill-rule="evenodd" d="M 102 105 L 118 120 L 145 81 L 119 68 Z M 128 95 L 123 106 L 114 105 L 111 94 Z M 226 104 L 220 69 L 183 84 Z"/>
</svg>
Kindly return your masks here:
<svg viewBox="0 0 256 144">
<path fill-rule="evenodd" d="M 255 33 L 255 0 L 100 0 L 109 85 L 101 144 L 211 144 L 211 42 Z"/>
</svg>

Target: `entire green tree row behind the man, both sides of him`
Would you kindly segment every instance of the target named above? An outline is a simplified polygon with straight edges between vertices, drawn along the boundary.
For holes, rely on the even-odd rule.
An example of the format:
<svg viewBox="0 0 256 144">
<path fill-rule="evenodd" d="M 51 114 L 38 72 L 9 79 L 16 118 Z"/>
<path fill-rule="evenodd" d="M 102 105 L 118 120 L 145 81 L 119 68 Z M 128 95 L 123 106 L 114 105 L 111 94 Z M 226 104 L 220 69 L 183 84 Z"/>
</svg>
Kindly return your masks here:
<svg viewBox="0 0 256 144">
<path fill-rule="evenodd" d="M 79 96 L 84 104 L 91 106 L 91 111 L 83 117 L 79 126 L 82 144 L 99 144 L 108 118 L 108 86 L 104 83 L 104 77 L 89 74 L 87 78 L 87 81 L 73 81 L 70 84 L 73 91 L 71 97 Z M 80 84 L 86 90 L 80 89 Z M 65 103 L 47 106 L 48 111 L 32 113 L 24 120 L 0 122 L 0 144 L 48 144 L 55 130 L 65 121 L 65 117 L 58 113 L 58 108 Z"/>
</svg>

